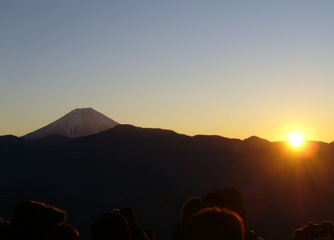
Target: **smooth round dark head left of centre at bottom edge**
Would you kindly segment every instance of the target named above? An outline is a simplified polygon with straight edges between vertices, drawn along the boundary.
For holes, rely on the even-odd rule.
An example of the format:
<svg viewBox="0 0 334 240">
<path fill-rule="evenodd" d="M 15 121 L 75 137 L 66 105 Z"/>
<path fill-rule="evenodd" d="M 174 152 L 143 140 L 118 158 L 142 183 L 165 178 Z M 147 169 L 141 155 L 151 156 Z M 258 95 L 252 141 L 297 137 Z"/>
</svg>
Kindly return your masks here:
<svg viewBox="0 0 334 240">
<path fill-rule="evenodd" d="M 127 220 L 119 213 L 108 212 L 98 217 L 92 224 L 92 240 L 129 240 L 130 230 Z"/>
</svg>

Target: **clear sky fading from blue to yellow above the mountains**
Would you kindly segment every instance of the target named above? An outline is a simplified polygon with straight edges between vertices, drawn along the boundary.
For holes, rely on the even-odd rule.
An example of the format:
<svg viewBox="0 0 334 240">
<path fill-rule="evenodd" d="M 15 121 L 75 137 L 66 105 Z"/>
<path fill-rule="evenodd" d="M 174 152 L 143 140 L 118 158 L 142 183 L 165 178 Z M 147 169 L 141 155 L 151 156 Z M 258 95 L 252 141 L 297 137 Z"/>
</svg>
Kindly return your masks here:
<svg viewBox="0 0 334 240">
<path fill-rule="evenodd" d="M 0 0 L 0 135 L 75 108 L 186 135 L 334 141 L 334 1 Z"/>
</svg>

